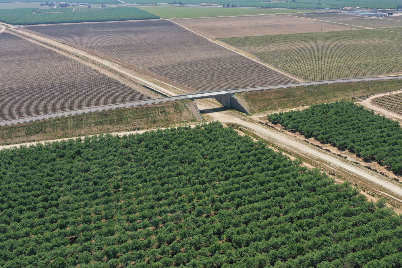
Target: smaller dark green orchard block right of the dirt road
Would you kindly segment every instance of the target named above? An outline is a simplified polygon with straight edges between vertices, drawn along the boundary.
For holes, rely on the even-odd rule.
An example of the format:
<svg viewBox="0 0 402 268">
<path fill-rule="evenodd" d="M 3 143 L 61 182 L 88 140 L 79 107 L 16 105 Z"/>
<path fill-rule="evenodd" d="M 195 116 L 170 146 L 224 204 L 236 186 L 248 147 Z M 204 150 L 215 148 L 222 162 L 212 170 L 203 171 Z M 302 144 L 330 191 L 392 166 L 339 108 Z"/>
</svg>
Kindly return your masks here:
<svg viewBox="0 0 402 268">
<path fill-rule="evenodd" d="M 402 128 L 361 105 L 349 101 L 315 104 L 303 111 L 274 113 L 268 119 L 402 173 Z"/>
</svg>

